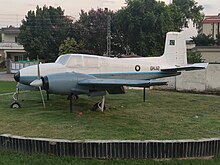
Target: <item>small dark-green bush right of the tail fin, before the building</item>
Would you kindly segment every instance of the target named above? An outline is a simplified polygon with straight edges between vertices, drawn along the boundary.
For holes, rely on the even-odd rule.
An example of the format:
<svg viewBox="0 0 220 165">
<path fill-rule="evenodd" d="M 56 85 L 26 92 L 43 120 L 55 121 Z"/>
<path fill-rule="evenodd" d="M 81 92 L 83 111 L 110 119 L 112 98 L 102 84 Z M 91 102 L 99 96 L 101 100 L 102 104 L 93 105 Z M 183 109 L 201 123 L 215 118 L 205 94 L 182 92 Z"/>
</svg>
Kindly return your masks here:
<svg viewBox="0 0 220 165">
<path fill-rule="evenodd" d="M 196 46 L 212 46 L 215 44 L 215 40 L 211 35 L 199 34 L 196 37 L 192 37 Z"/>
</svg>

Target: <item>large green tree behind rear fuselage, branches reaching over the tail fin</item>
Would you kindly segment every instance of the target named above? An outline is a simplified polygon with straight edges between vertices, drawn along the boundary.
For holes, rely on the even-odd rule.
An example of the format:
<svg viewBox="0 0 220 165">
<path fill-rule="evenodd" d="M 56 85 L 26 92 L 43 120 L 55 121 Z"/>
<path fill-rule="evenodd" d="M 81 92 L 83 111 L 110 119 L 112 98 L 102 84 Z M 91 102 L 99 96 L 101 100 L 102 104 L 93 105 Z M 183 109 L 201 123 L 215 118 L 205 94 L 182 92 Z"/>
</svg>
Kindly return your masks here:
<svg viewBox="0 0 220 165">
<path fill-rule="evenodd" d="M 180 0 L 166 5 L 156 0 L 127 0 L 127 6 L 116 12 L 113 24 L 121 43 L 142 56 L 161 55 L 168 31 L 181 31 L 189 20 L 202 19 L 201 6 L 194 0 Z"/>
</svg>

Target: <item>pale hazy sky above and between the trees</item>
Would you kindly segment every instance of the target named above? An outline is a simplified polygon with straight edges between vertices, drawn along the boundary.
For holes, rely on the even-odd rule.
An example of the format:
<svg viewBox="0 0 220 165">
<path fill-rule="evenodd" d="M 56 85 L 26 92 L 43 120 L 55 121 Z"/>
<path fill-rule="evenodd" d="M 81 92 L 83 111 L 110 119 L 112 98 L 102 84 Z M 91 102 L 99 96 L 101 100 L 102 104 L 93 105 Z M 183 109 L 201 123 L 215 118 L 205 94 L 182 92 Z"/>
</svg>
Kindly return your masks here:
<svg viewBox="0 0 220 165">
<path fill-rule="evenodd" d="M 166 3 L 172 0 L 161 0 Z M 195 0 L 199 5 L 204 7 L 205 15 L 217 15 L 220 13 L 219 0 Z M 0 0 L 0 27 L 9 25 L 20 26 L 21 20 L 29 10 L 35 10 L 36 6 L 43 5 L 58 7 L 65 10 L 65 15 L 74 18 L 79 17 L 80 10 L 89 11 L 94 8 L 109 8 L 118 10 L 125 6 L 125 0 Z M 192 26 L 184 30 L 186 38 L 196 35 L 196 29 Z"/>
</svg>

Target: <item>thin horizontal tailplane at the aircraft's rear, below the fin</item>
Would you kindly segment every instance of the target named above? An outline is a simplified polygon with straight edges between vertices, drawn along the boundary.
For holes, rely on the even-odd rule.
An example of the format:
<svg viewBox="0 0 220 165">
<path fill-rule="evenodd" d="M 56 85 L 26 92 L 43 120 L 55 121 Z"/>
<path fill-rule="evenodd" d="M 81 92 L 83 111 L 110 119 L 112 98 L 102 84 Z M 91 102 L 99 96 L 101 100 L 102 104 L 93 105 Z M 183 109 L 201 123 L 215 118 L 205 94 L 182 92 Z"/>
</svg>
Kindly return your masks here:
<svg viewBox="0 0 220 165">
<path fill-rule="evenodd" d="M 189 71 L 189 70 L 200 70 L 207 68 L 208 63 L 195 63 L 191 65 L 185 65 L 185 66 L 176 66 L 176 67 L 170 67 L 170 68 L 161 68 L 161 71 Z"/>
</svg>

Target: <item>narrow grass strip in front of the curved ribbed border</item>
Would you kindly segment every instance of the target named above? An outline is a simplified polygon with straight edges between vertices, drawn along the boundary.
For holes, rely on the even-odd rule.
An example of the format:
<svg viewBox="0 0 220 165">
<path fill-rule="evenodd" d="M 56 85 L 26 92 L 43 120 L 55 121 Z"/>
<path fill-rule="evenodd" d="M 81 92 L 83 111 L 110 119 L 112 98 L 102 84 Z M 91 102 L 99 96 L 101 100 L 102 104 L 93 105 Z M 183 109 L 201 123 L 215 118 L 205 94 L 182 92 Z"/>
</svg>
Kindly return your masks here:
<svg viewBox="0 0 220 165">
<path fill-rule="evenodd" d="M 0 152 L 0 164 L 1 165 L 17 165 L 17 164 L 31 164 L 31 165 L 165 165 L 165 164 L 193 164 L 193 165 L 215 165 L 219 164 L 220 157 L 207 160 L 164 160 L 164 161 L 155 161 L 155 160 L 97 160 L 97 159 L 76 159 L 72 157 L 56 157 L 56 156 L 47 156 L 47 155 L 24 155 L 19 153 L 10 153 L 10 152 Z"/>
</svg>

